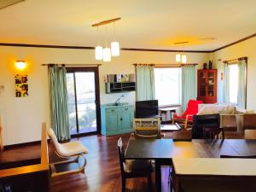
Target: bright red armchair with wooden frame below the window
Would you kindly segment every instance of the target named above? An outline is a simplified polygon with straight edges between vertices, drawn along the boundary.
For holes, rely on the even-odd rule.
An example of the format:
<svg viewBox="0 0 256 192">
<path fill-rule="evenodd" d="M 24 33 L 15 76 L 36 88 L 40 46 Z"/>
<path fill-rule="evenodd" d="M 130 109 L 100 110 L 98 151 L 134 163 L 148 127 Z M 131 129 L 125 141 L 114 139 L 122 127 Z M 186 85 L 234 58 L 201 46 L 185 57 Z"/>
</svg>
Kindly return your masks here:
<svg viewBox="0 0 256 192">
<path fill-rule="evenodd" d="M 202 104 L 199 100 L 189 100 L 188 107 L 184 113 L 174 113 L 172 123 L 177 122 L 187 129 L 189 123 L 193 123 L 193 116 L 198 113 L 198 105 Z"/>
</svg>

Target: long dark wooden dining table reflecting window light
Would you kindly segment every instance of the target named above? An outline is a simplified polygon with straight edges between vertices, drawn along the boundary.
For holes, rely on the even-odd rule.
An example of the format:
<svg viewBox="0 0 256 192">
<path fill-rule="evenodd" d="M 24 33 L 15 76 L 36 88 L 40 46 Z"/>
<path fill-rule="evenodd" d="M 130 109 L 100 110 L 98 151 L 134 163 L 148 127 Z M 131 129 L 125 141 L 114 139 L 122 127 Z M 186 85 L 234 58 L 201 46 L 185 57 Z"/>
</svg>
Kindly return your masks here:
<svg viewBox="0 0 256 192">
<path fill-rule="evenodd" d="M 221 154 L 247 156 L 256 154 L 256 140 L 193 139 L 174 142 L 171 138 L 131 138 L 125 149 L 125 160 L 154 160 L 156 191 L 161 191 L 161 166 L 171 166 L 172 158 L 219 158 Z"/>
</svg>

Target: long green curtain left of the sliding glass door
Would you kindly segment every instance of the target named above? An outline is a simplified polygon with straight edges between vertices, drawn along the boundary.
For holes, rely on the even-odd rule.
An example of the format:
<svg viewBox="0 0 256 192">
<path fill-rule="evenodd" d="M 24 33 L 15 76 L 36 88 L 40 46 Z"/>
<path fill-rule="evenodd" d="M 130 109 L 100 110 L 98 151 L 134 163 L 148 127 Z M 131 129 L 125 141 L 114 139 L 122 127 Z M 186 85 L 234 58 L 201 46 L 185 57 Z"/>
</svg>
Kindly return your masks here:
<svg viewBox="0 0 256 192">
<path fill-rule="evenodd" d="M 49 67 L 51 124 L 59 141 L 70 139 L 65 67 Z"/>
</svg>

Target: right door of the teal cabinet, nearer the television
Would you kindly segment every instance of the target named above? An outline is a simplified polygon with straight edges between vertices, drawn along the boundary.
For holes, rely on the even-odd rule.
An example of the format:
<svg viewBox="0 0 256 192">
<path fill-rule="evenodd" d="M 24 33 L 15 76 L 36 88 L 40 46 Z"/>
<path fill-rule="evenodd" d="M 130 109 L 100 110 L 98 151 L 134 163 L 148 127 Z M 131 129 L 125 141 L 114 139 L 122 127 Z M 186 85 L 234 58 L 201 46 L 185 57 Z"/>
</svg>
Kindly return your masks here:
<svg viewBox="0 0 256 192">
<path fill-rule="evenodd" d="M 132 120 L 133 120 L 133 108 L 132 107 L 123 107 L 120 108 L 120 124 L 122 130 L 132 129 Z"/>
</svg>

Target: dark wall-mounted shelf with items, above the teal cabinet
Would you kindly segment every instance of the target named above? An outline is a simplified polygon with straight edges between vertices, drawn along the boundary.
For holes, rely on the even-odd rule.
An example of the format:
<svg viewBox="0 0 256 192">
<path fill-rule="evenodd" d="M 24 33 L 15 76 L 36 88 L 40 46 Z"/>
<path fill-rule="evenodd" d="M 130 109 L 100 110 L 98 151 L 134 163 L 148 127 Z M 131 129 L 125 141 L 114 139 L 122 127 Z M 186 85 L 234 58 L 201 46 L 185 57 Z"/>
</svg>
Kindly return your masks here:
<svg viewBox="0 0 256 192">
<path fill-rule="evenodd" d="M 134 74 L 108 74 L 106 93 L 119 93 L 136 89 Z"/>
</svg>

